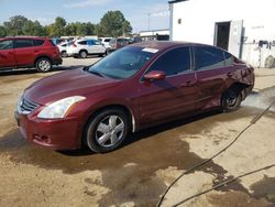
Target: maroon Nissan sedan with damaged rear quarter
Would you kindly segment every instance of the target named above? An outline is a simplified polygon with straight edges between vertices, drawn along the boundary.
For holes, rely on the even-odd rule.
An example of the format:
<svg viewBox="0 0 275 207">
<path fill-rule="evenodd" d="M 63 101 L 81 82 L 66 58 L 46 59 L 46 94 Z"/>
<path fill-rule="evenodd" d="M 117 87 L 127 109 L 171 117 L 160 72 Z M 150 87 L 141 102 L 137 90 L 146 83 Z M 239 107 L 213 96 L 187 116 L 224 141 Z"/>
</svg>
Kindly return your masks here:
<svg viewBox="0 0 275 207">
<path fill-rule="evenodd" d="M 220 48 L 138 43 L 32 84 L 15 116 L 36 144 L 109 152 L 129 132 L 213 108 L 237 110 L 253 85 L 253 68 Z"/>
</svg>

